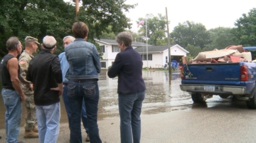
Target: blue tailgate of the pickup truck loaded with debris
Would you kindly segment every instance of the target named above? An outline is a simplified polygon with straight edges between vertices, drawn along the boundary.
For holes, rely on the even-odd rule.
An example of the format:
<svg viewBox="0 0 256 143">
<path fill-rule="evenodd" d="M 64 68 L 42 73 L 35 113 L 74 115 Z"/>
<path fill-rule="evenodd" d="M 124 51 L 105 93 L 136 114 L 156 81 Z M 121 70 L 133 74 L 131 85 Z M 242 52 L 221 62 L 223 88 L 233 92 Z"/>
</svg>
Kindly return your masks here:
<svg viewBox="0 0 256 143">
<path fill-rule="evenodd" d="M 183 83 L 240 84 L 240 63 L 188 64 Z"/>
</svg>

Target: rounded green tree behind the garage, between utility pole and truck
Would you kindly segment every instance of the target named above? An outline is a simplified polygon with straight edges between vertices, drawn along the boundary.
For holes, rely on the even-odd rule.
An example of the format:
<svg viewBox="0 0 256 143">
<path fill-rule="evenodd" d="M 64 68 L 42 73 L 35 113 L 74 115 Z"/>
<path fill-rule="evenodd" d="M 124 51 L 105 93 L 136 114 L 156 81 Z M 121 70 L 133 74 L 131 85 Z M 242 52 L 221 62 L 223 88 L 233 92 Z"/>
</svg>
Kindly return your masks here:
<svg viewBox="0 0 256 143">
<path fill-rule="evenodd" d="M 178 26 L 175 26 L 173 32 L 170 33 L 170 37 L 181 47 L 186 47 L 190 44 L 204 48 L 210 42 L 210 35 L 205 26 L 193 21 L 186 21 L 182 24 L 178 23 Z"/>
</svg>

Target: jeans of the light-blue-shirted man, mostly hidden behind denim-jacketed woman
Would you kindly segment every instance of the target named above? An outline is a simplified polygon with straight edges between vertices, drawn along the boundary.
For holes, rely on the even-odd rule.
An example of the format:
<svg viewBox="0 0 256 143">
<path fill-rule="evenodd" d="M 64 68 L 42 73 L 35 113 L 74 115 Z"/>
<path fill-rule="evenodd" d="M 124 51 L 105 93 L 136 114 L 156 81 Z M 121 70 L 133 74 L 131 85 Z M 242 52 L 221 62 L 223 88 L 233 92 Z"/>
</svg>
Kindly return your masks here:
<svg viewBox="0 0 256 143">
<path fill-rule="evenodd" d="M 66 109 L 67 115 L 68 115 L 68 125 L 70 125 L 71 110 L 70 110 L 70 106 L 69 106 L 69 102 L 68 102 L 67 93 L 68 93 L 68 87 L 67 87 L 67 85 L 64 85 L 62 98 L 63 98 L 64 104 L 65 104 L 65 109 Z M 82 122 L 83 122 L 83 127 L 85 128 L 86 133 L 88 133 L 89 129 L 88 129 L 88 123 L 87 123 L 86 110 L 85 110 L 85 101 L 83 101 L 81 118 L 82 118 Z"/>
</svg>

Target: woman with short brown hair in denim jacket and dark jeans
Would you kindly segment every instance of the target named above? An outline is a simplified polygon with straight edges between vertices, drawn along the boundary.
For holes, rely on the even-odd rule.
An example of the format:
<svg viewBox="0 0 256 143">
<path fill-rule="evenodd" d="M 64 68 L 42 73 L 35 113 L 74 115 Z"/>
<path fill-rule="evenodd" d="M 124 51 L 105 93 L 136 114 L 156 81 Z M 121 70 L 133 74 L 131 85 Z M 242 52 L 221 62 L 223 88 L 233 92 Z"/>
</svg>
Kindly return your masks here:
<svg viewBox="0 0 256 143">
<path fill-rule="evenodd" d="M 72 26 L 75 41 L 65 47 L 69 64 L 65 78 L 68 79 L 68 102 L 71 109 L 70 143 L 82 142 L 81 109 L 85 101 L 90 142 L 101 143 L 97 126 L 97 106 L 99 104 L 99 72 L 101 62 L 95 45 L 86 42 L 88 26 L 76 22 Z"/>
</svg>

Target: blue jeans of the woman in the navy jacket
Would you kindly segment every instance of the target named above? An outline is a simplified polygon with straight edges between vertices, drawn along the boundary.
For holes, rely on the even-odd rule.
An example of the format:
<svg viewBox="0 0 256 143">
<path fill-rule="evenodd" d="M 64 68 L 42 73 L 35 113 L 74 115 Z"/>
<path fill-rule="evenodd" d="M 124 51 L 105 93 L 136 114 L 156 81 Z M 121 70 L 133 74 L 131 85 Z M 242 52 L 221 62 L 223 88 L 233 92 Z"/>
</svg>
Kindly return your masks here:
<svg viewBox="0 0 256 143">
<path fill-rule="evenodd" d="M 141 140 L 141 107 L 145 91 L 118 93 L 121 143 L 139 143 Z M 131 133 L 133 134 L 131 136 Z"/>
</svg>

